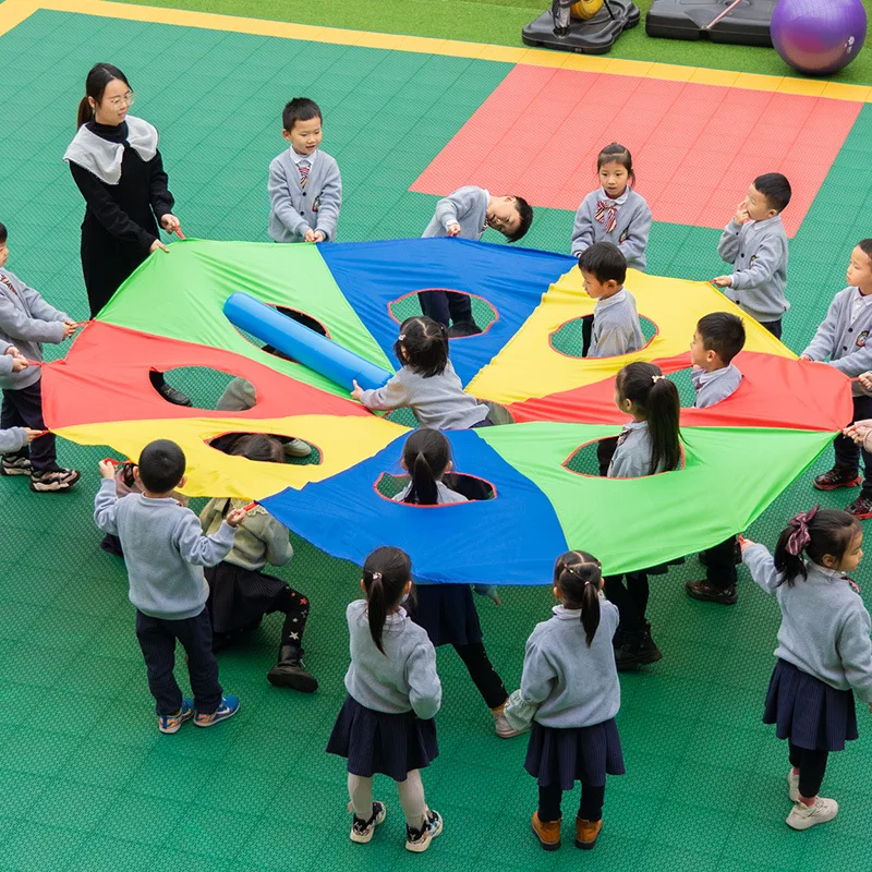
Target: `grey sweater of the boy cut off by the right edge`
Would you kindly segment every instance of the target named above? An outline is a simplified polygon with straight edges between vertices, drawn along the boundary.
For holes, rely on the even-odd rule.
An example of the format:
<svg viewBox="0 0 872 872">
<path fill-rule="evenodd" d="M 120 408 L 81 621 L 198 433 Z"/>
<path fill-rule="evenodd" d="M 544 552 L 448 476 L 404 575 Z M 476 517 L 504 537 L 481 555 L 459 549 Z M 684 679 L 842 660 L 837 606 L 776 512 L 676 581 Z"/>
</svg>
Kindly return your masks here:
<svg viewBox="0 0 872 872">
<path fill-rule="evenodd" d="M 845 288 L 829 304 L 823 324 L 818 328 L 809 347 L 802 352 L 813 361 L 826 361 L 835 370 L 851 378 L 872 370 L 872 305 L 862 305 L 855 317 L 855 301 L 861 296 L 859 288 Z M 864 391 L 853 383 L 855 397 Z"/>
</svg>

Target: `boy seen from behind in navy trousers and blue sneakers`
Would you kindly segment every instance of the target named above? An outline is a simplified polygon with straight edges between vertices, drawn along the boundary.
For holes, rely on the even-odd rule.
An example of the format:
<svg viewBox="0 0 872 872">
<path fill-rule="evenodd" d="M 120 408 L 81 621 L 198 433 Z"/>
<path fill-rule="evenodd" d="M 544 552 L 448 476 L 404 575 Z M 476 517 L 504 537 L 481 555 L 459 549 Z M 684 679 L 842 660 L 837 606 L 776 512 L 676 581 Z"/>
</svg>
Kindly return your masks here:
<svg viewBox="0 0 872 872">
<path fill-rule="evenodd" d="M 239 711 L 239 699 L 222 695 L 218 663 L 211 651 L 204 566 L 216 566 L 233 547 L 242 509 L 228 512 L 214 536 L 204 536 L 191 509 L 173 498 L 183 487 L 185 457 L 169 439 L 143 448 L 133 474 L 142 494 L 116 496 L 114 467 L 100 463 L 100 489 L 94 500 L 94 522 L 121 540 L 130 578 L 130 601 L 136 606 L 136 638 L 148 671 L 148 689 L 157 702 L 158 729 L 178 732 L 192 717 L 210 727 Z M 182 699 L 172 667 L 175 640 L 187 654 L 193 701 Z"/>
</svg>

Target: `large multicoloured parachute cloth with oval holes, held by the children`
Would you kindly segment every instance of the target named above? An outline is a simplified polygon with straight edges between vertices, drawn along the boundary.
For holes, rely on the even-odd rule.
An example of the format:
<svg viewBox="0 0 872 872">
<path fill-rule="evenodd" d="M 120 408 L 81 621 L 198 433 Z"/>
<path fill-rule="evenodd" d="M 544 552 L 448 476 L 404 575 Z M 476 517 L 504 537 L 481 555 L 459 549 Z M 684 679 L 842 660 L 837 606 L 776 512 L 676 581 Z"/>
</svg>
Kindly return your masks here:
<svg viewBox="0 0 872 872">
<path fill-rule="evenodd" d="M 190 495 L 257 499 L 317 547 L 358 564 L 378 545 L 397 545 L 422 580 L 547 583 L 567 548 L 592 552 L 609 573 L 641 569 L 743 530 L 850 420 L 851 400 L 845 376 L 797 362 L 746 319 L 740 388 L 710 409 L 682 409 L 682 469 L 635 480 L 571 471 L 580 446 L 626 422 L 613 400 L 621 366 L 649 360 L 667 373 L 686 370 L 699 317 L 738 312 L 705 283 L 631 271 L 627 286 L 656 335 L 637 353 L 582 360 L 552 344 L 561 325 L 593 311 L 569 257 L 448 239 L 177 242 L 142 265 L 65 361 L 45 368 L 46 420 L 68 439 L 131 458 L 152 439 L 174 439 L 187 456 Z M 470 392 L 504 404 L 518 423 L 447 434 L 456 468 L 489 482 L 494 499 L 416 507 L 383 496 L 377 483 L 401 474 L 409 429 L 262 351 L 222 314 L 242 291 L 306 313 L 339 344 L 392 370 L 390 303 L 432 288 L 476 294 L 497 313 L 481 336 L 452 340 L 451 359 Z M 250 379 L 255 407 L 170 405 L 149 372 L 184 366 Z M 320 462 L 257 463 L 208 445 L 254 431 L 305 439 Z"/>
</svg>

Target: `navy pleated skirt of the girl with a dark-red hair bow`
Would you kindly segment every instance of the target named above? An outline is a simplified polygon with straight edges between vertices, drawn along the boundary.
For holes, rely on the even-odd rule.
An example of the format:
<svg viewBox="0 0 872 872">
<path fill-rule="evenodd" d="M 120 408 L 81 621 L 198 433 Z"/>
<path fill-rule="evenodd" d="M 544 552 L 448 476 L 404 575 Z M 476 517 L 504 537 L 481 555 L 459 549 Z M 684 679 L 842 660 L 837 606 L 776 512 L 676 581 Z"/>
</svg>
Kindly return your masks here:
<svg viewBox="0 0 872 872">
<path fill-rule="evenodd" d="M 775 735 L 810 751 L 841 751 L 857 738 L 853 692 L 836 690 L 814 676 L 779 659 L 766 694 L 764 724 Z"/>
</svg>

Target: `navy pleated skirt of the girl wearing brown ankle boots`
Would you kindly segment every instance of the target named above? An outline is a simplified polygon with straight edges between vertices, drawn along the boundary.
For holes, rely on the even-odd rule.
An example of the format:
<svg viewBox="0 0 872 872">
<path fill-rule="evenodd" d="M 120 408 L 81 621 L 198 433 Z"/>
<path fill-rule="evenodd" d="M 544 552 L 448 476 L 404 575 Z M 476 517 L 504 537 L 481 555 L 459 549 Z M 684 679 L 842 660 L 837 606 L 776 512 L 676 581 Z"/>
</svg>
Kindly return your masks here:
<svg viewBox="0 0 872 872">
<path fill-rule="evenodd" d="M 576 782 L 604 787 L 606 775 L 625 773 L 615 718 L 576 729 L 543 727 L 534 720 L 524 768 L 540 787 L 571 790 Z"/>
</svg>

